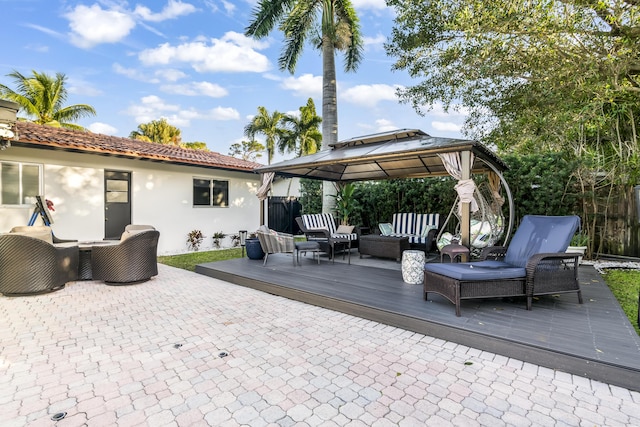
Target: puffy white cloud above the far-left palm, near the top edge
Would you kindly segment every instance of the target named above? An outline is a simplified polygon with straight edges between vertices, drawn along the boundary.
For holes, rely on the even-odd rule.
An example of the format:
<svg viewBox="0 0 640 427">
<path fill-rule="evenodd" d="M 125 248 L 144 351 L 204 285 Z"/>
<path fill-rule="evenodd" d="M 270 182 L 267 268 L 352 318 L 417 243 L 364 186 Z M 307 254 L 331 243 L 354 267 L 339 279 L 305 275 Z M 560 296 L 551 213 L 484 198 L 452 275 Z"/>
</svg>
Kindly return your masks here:
<svg viewBox="0 0 640 427">
<path fill-rule="evenodd" d="M 117 10 L 104 10 L 99 5 L 79 5 L 65 17 L 71 28 L 71 43 L 90 48 L 100 43 L 116 43 L 135 27 L 131 16 Z"/>
</svg>

